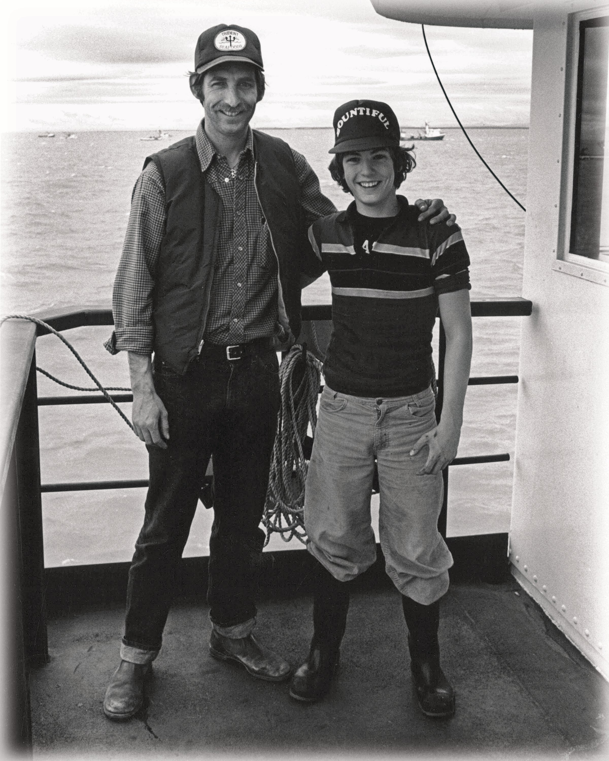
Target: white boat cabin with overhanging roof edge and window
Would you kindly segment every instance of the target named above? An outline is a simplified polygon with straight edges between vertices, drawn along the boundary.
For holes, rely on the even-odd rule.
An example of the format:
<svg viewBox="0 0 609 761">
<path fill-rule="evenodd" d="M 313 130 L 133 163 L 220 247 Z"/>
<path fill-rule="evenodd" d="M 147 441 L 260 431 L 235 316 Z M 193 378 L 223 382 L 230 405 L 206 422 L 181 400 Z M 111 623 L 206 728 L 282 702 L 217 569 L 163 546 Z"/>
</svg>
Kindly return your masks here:
<svg viewBox="0 0 609 761">
<path fill-rule="evenodd" d="M 371 2 L 414 24 L 534 30 L 510 562 L 609 678 L 609 5 Z"/>
</svg>

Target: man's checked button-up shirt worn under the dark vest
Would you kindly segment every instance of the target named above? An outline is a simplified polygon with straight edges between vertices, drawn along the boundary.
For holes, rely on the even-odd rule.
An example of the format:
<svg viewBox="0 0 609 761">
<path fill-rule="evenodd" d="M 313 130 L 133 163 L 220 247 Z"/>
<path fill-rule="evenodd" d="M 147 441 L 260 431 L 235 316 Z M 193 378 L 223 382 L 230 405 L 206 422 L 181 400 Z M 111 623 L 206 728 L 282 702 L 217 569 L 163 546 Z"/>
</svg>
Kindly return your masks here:
<svg viewBox="0 0 609 761">
<path fill-rule="evenodd" d="M 222 201 L 205 339 L 215 344 L 237 344 L 281 336 L 277 261 L 253 184 L 251 129 L 234 170 L 215 151 L 203 122 L 195 141 L 206 181 Z M 294 150 L 292 155 L 304 216 L 307 224 L 312 224 L 336 209 L 321 193 L 319 180 L 304 156 Z M 163 181 L 150 162 L 133 189 L 123 254 L 114 281 L 114 331 L 105 343 L 111 354 L 152 352 L 152 295 L 166 220 Z"/>
</svg>

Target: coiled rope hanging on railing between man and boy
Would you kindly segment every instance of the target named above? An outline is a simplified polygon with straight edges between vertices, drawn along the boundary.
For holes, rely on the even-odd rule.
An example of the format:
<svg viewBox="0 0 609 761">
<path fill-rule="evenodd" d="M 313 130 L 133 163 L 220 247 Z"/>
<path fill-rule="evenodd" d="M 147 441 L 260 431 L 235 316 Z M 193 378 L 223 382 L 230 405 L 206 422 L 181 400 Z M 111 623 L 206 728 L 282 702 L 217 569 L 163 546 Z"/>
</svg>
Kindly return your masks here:
<svg viewBox="0 0 609 761">
<path fill-rule="evenodd" d="M 279 368 L 281 407 L 264 506 L 265 545 L 273 532 L 279 533 L 284 542 L 296 537 L 305 543 L 303 508 L 307 461 L 302 442 L 308 425 L 315 435 L 320 380 L 321 363 L 307 352 L 307 345 L 292 346 Z"/>
</svg>

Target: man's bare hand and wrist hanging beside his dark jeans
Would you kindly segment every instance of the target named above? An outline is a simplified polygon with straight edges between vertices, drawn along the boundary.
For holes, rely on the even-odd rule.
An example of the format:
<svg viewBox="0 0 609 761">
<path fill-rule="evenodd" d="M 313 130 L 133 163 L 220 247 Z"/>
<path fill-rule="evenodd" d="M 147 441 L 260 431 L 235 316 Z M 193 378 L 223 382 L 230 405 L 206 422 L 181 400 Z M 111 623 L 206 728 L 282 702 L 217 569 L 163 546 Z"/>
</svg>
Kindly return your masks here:
<svg viewBox="0 0 609 761">
<path fill-rule="evenodd" d="M 152 382 L 152 362 L 149 355 L 129 352 L 129 373 L 133 391 L 132 422 L 136 434 L 146 444 L 167 449 L 169 420 L 167 409 Z"/>
</svg>

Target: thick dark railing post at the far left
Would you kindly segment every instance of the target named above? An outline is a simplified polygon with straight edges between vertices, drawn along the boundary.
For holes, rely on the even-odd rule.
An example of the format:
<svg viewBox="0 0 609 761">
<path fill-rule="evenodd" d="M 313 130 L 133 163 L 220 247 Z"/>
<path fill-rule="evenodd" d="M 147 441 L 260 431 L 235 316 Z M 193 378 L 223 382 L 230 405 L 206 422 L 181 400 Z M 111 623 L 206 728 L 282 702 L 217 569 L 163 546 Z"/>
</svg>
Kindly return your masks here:
<svg viewBox="0 0 609 761">
<path fill-rule="evenodd" d="M 27 667 L 46 663 L 46 606 L 44 594 L 43 514 L 40 498 L 40 449 L 36 352 L 27 377 L 14 443 L 17 479 L 17 528 L 21 565 L 21 610 Z"/>
</svg>

